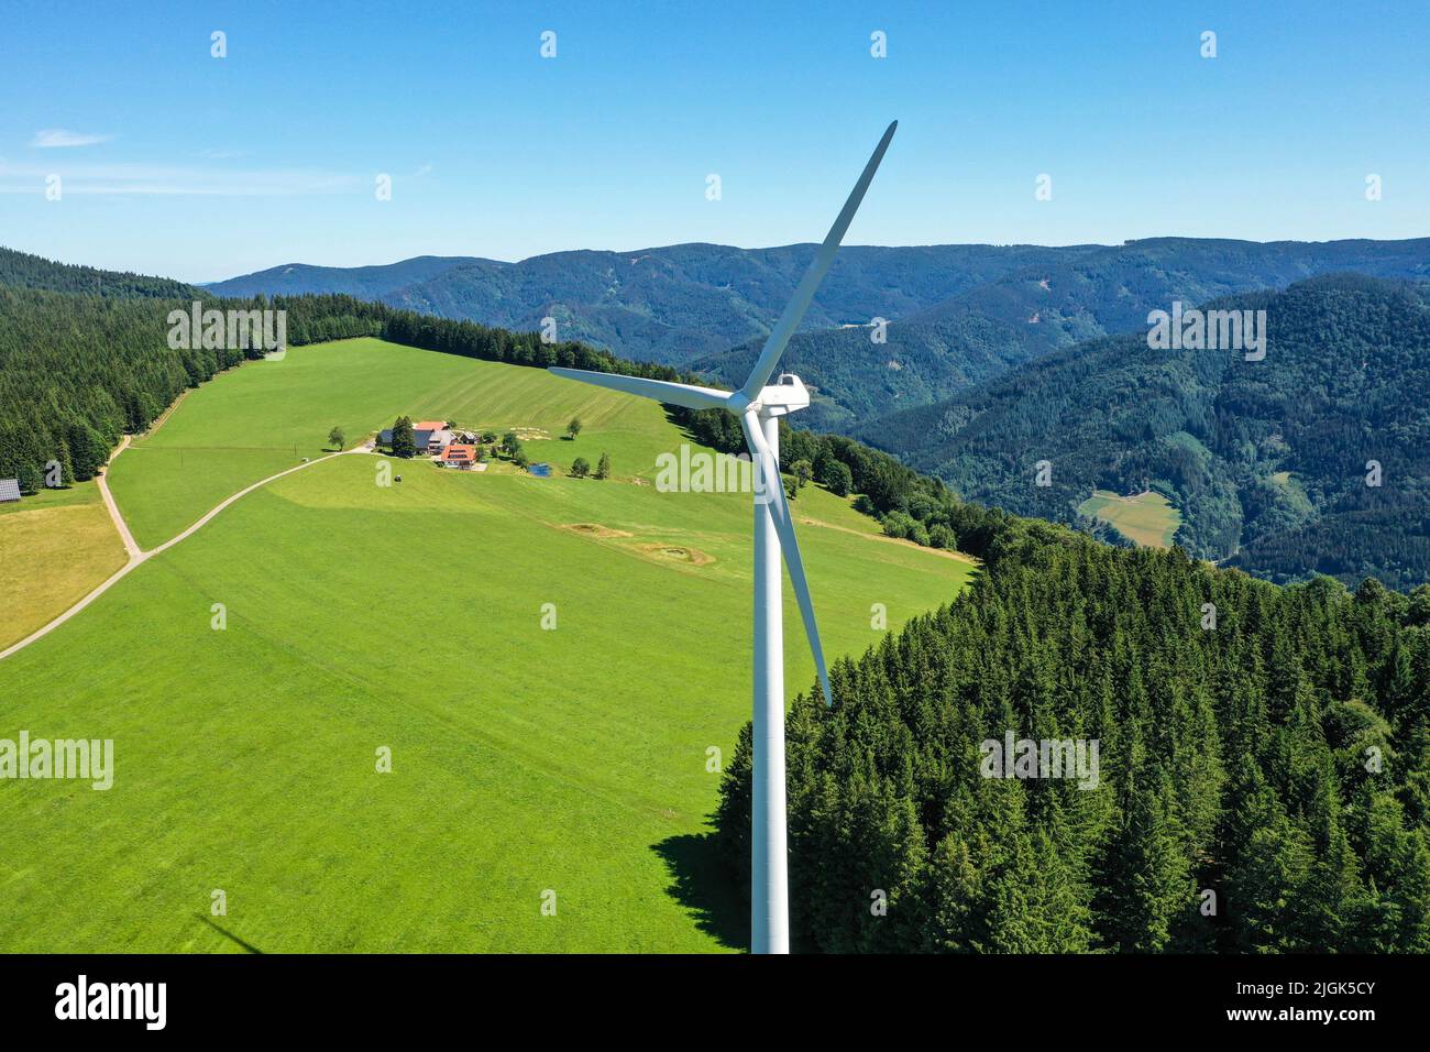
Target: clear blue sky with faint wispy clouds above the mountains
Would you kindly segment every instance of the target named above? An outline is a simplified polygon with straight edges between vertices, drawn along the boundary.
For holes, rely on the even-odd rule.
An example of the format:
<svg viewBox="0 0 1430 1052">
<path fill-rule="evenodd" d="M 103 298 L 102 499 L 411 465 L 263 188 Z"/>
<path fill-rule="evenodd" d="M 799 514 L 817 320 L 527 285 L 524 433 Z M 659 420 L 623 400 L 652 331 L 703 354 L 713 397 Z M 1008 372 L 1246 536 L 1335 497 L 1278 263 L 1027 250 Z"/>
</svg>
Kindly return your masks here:
<svg viewBox="0 0 1430 1052">
<path fill-rule="evenodd" d="M 7 3 L 0 245 L 213 281 L 818 240 L 895 117 L 849 243 L 1430 235 L 1426 3 L 297 7 Z"/>
</svg>

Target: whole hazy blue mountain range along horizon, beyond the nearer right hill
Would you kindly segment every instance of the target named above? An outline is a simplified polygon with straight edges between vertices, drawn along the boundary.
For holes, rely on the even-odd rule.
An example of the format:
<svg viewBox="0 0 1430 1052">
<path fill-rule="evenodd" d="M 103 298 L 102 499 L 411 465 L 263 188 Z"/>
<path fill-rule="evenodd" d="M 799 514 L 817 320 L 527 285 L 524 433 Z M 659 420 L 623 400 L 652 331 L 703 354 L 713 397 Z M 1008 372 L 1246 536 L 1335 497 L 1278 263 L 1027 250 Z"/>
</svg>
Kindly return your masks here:
<svg viewBox="0 0 1430 1052">
<path fill-rule="evenodd" d="M 669 245 L 579 250 L 519 263 L 422 258 L 388 268 L 287 265 L 209 286 L 214 295 L 342 292 L 742 381 L 814 245 Z M 429 268 L 432 273 L 415 271 Z M 849 245 L 789 348 L 822 388 L 815 428 L 945 398 L 1050 349 L 1141 323 L 1174 298 L 1284 286 L 1327 271 L 1427 275 L 1430 240 L 1238 242 L 1158 238 L 1125 245 Z M 867 328 L 884 318 L 888 344 Z M 734 348 L 734 349 L 731 349 Z"/>
</svg>

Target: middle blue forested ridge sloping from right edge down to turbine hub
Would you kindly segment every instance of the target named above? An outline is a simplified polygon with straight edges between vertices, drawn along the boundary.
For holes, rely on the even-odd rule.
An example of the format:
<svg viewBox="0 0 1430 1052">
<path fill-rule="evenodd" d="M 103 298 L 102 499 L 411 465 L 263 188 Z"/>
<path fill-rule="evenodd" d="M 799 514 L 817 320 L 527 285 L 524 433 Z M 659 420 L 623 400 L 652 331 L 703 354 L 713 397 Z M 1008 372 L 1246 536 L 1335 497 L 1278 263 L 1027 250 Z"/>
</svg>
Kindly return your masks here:
<svg viewBox="0 0 1430 1052">
<path fill-rule="evenodd" d="M 874 417 L 927 405 L 1058 348 L 1145 329 L 1147 313 L 1354 271 L 1430 278 L 1430 239 L 1240 242 L 1155 238 L 1048 249 L 1044 258 L 894 318 L 887 342 L 868 328 L 799 333 L 785 366 L 818 388 L 801 425 L 855 434 Z M 865 319 L 867 321 L 867 319 Z M 761 341 L 689 364 L 725 382 L 748 374 Z"/>
</svg>

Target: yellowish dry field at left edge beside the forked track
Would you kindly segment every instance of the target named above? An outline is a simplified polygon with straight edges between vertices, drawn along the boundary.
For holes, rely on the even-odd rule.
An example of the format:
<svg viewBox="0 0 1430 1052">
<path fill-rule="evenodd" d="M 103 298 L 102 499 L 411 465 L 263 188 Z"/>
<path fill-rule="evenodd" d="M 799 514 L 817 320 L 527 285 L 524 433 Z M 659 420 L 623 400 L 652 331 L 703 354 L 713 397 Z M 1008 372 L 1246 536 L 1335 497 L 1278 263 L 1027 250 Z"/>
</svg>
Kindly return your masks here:
<svg viewBox="0 0 1430 1052">
<path fill-rule="evenodd" d="M 0 650 L 79 603 L 124 560 L 94 482 L 0 505 Z"/>
</svg>

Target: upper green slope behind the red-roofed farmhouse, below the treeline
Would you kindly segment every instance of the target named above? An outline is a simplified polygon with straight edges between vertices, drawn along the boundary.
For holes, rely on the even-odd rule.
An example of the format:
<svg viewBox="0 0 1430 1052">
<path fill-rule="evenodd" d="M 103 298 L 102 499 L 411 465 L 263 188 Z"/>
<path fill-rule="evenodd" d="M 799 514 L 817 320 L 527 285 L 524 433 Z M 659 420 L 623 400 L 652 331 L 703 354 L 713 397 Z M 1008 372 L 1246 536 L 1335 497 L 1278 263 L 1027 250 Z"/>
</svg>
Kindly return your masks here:
<svg viewBox="0 0 1430 1052">
<path fill-rule="evenodd" d="M 586 457 L 595 464 L 609 451 L 622 477 L 646 454 L 642 467 L 654 477 L 651 442 L 669 429 L 654 404 L 558 384 L 539 369 L 352 339 L 293 348 L 282 361 L 253 362 L 222 385 L 189 392 L 183 412 L 139 438 L 110 481 L 139 544 L 153 548 L 229 494 L 323 455 L 335 425 L 356 444 L 400 414 L 496 431 L 545 429 L 551 441 L 528 442 L 533 461 L 569 467 Z M 572 417 L 588 432 L 575 442 L 555 438 Z"/>
</svg>

